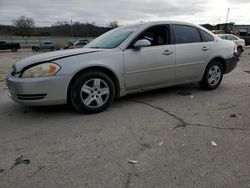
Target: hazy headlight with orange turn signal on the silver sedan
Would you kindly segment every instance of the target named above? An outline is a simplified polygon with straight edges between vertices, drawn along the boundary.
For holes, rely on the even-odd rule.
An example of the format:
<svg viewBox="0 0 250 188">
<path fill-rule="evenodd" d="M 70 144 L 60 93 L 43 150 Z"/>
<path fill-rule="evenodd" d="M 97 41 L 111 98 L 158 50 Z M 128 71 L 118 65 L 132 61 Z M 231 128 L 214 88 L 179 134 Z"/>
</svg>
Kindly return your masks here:
<svg viewBox="0 0 250 188">
<path fill-rule="evenodd" d="M 36 78 L 53 76 L 60 70 L 60 66 L 55 63 L 42 63 L 25 70 L 21 78 Z"/>
</svg>

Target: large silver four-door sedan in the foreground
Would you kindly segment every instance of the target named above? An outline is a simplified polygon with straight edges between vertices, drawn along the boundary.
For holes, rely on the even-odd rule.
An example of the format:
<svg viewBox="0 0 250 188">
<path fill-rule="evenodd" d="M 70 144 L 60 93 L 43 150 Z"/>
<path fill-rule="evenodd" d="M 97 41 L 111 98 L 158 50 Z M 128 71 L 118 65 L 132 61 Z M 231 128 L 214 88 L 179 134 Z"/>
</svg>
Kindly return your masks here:
<svg viewBox="0 0 250 188">
<path fill-rule="evenodd" d="M 236 55 L 234 42 L 201 26 L 149 22 L 118 27 L 80 49 L 18 61 L 7 86 L 21 104 L 68 102 L 79 112 L 97 113 L 130 93 L 192 82 L 216 89 L 236 67 Z"/>
</svg>

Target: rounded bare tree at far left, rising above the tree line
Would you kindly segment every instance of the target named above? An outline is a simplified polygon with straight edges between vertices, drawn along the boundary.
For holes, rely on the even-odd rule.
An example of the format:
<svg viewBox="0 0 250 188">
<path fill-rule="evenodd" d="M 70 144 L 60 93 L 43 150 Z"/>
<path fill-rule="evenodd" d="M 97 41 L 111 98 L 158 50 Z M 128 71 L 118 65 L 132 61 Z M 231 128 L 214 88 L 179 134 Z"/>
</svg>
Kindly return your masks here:
<svg viewBox="0 0 250 188">
<path fill-rule="evenodd" d="M 32 18 L 21 16 L 16 20 L 12 20 L 13 25 L 16 27 L 16 34 L 21 36 L 30 37 L 35 28 L 35 21 Z"/>
</svg>

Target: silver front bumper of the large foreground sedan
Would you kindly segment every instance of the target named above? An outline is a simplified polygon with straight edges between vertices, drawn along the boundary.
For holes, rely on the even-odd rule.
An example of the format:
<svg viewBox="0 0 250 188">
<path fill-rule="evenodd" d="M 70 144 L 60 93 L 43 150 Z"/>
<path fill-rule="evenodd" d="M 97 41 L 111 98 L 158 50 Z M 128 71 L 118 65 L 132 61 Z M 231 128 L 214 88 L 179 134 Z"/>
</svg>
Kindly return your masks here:
<svg viewBox="0 0 250 188">
<path fill-rule="evenodd" d="M 69 76 L 43 78 L 16 78 L 8 75 L 6 85 L 14 101 L 31 106 L 58 105 L 67 103 Z"/>
</svg>

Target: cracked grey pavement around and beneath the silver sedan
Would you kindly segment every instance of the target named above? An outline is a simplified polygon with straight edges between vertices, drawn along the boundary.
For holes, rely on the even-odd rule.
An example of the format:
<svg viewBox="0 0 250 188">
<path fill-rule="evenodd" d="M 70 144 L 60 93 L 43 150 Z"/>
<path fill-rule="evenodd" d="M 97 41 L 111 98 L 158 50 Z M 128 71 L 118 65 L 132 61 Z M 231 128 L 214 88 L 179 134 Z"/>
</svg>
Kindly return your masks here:
<svg viewBox="0 0 250 188">
<path fill-rule="evenodd" d="M 0 52 L 0 188 L 250 187 L 250 49 L 214 91 L 129 95 L 96 115 L 12 102 L 1 80 L 33 54 Z"/>
</svg>

